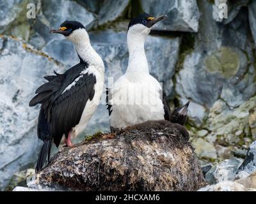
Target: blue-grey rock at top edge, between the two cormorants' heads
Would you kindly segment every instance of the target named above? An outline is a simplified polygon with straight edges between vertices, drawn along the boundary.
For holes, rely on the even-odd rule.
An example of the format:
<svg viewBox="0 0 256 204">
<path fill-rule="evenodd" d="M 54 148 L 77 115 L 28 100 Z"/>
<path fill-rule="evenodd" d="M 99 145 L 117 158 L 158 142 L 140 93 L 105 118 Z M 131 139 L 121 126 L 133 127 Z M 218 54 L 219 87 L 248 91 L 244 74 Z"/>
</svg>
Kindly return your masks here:
<svg viewBox="0 0 256 204">
<path fill-rule="evenodd" d="M 115 21 L 122 17 L 129 5 L 129 0 L 106 0 L 99 12 L 99 25 Z"/>
</svg>

